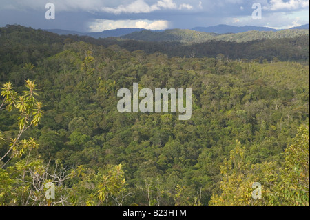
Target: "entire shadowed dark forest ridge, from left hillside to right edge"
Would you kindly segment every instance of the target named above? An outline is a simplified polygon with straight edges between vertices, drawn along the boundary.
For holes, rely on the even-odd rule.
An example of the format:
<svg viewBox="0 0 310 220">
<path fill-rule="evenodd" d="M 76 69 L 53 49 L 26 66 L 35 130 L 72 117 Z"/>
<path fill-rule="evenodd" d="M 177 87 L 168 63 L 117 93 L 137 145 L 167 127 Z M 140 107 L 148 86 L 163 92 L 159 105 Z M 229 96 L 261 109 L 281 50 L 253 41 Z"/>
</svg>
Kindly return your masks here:
<svg viewBox="0 0 310 220">
<path fill-rule="evenodd" d="M 273 61 L 273 59 L 275 61 L 309 63 L 309 34 L 299 37 L 290 36 L 289 38 L 262 39 L 243 43 L 207 41 L 205 43 L 193 43 L 192 45 L 180 42 L 147 42 L 117 38 L 94 39 L 91 37 L 78 37 L 76 35 L 59 36 L 22 26 L 0 28 L 0 35 L 2 39 L 0 55 L 3 57 L 3 62 L 7 61 L 2 68 L 6 68 L 6 72 L 10 72 L 8 68 L 12 65 L 11 62 L 19 64 L 28 59 L 32 63 L 36 63 L 39 55 L 48 57 L 50 54 L 61 52 L 63 44 L 70 43 L 71 41 L 83 41 L 95 46 L 105 46 L 106 48 L 118 45 L 130 52 L 136 50 L 143 50 L 147 54 L 161 52 L 167 54 L 168 57 L 218 58 L 218 55 L 220 55 L 220 57 L 225 59 L 242 59 L 243 61 L 248 59 L 260 63 Z M 23 41 L 20 39 L 23 39 Z M 19 52 L 19 48 L 28 50 L 28 54 L 32 54 L 32 56 L 26 58 L 28 54 L 26 52 Z"/>
</svg>

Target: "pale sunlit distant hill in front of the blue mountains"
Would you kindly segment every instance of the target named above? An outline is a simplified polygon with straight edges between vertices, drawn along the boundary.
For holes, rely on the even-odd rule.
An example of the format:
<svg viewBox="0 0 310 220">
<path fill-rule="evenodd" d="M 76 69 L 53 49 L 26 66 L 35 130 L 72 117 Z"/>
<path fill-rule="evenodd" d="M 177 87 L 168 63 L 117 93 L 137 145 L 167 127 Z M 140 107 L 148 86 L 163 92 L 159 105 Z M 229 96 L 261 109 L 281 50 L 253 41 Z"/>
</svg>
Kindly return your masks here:
<svg viewBox="0 0 310 220">
<path fill-rule="evenodd" d="M 150 42 L 180 42 L 180 43 L 203 43 L 206 41 L 234 41 L 237 43 L 254 41 L 260 39 L 280 39 L 309 35 L 309 30 L 280 30 L 277 32 L 257 31 L 242 32 L 237 34 L 214 34 L 198 32 L 195 30 L 172 29 L 163 32 L 152 32 L 143 30 L 122 36 L 123 39 L 133 39 L 137 41 Z"/>
</svg>

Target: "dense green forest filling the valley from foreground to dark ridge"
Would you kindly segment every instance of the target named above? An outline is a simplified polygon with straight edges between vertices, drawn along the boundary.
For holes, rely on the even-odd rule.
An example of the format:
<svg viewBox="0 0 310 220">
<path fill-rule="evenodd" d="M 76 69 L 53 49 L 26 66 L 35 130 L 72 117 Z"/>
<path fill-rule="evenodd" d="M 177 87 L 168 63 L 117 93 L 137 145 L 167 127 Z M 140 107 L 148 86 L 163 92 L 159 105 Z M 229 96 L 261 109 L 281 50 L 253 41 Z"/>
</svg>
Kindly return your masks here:
<svg viewBox="0 0 310 220">
<path fill-rule="evenodd" d="M 118 112 L 133 83 L 192 88 L 192 119 Z M 189 45 L 6 26 L 0 88 L 0 206 L 309 206 L 309 34 Z"/>
</svg>

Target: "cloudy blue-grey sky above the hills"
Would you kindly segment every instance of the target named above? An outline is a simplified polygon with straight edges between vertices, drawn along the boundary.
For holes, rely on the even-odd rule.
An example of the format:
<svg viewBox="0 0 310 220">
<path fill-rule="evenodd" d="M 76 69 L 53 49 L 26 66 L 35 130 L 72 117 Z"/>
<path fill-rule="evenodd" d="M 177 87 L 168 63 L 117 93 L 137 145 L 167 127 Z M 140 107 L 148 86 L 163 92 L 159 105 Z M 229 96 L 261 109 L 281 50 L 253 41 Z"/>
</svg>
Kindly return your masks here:
<svg viewBox="0 0 310 220">
<path fill-rule="evenodd" d="M 46 19 L 47 3 L 54 19 Z M 261 6 L 261 19 L 252 14 Z M 48 13 L 49 14 L 49 13 Z M 51 14 L 50 14 L 51 15 Z M 256 14 L 258 15 L 258 14 Z M 309 23 L 309 0 L 0 0 L 0 26 L 101 32 L 191 29 L 219 24 L 292 28 Z"/>
</svg>

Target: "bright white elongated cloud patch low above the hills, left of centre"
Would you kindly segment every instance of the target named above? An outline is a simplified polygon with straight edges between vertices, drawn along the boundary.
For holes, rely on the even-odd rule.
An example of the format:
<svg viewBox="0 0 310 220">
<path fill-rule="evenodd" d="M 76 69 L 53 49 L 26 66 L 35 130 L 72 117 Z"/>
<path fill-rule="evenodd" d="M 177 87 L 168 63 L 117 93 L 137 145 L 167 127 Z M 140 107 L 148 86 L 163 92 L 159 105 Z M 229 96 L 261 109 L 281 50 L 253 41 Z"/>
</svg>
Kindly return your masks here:
<svg viewBox="0 0 310 220">
<path fill-rule="evenodd" d="M 103 20 L 96 19 L 90 23 L 90 32 L 102 32 L 103 30 L 113 30 L 117 28 L 144 28 L 149 30 L 163 30 L 169 28 L 169 21 L 158 20 Z"/>
</svg>

